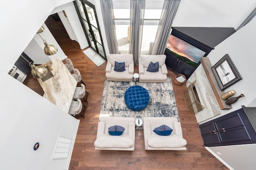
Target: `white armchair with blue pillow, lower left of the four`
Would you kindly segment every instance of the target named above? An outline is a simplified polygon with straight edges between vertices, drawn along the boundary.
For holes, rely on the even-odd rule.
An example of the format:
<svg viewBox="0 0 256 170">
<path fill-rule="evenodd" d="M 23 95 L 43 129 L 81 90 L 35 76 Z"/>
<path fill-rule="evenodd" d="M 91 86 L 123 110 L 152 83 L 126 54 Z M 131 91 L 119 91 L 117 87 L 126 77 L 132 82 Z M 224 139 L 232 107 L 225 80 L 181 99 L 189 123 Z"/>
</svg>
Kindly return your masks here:
<svg viewBox="0 0 256 170">
<path fill-rule="evenodd" d="M 124 127 L 120 136 L 112 136 L 108 128 L 114 125 Z M 99 150 L 134 150 L 135 119 L 133 117 L 101 117 L 98 123 L 95 149 Z"/>
</svg>

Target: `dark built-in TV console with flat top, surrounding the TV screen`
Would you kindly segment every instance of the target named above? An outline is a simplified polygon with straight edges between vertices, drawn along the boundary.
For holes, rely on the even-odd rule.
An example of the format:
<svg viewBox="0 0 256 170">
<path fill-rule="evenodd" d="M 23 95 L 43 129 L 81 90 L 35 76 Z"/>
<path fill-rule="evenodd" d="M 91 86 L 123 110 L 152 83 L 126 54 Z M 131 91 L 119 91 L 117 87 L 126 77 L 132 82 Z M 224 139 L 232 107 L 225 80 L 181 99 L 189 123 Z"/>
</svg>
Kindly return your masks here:
<svg viewBox="0 0 256 170">
<path fill-rule="evenodd" d="M 234 32 L 236 32 L 235 29 L 231 27 L 172 27 L 171 35 L 205 51 L 204 57 L 206 57 L 216 45 Z M 166 55 L 167 68 L 176 74 L 184 74 L 187 79 L 200 65 L 199 62 L 196 67 L 193 68 L 168 51 L 165 51 L 164 54 Z"/>
</svg>

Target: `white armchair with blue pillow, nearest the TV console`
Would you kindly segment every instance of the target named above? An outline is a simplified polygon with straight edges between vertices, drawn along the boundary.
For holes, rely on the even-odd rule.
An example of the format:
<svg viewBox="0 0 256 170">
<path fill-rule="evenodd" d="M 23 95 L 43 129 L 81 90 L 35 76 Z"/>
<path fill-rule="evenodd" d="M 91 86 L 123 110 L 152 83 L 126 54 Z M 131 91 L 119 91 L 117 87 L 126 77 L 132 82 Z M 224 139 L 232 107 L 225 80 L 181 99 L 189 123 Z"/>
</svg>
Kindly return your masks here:
<svg viewBox="0 0 256 170">
<path fill-rule="evenodd" d="M 141 55 L 139 60 L 139 82 L 165 82 L 167 78 L 167 68 L 165 65 L 166 55 Z M 150 62 L 159 62 L 158 72 L 148 72 Z"/>
</svg>

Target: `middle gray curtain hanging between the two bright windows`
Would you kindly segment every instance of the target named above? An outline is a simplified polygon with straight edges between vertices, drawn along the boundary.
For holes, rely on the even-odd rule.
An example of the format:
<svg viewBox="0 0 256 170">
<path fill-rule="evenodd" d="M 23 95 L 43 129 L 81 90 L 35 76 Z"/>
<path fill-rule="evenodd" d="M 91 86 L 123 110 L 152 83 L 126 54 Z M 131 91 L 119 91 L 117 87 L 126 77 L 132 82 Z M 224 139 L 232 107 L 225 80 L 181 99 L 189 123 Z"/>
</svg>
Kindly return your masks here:
<svg viewBox="0 0 256 170">
<path fill-rule="evenodd" d="M 144 22 L 145 0 L 130 1 L 130 47 L 134 65 L 139 64 L 142 30 Z"/>
</svg>

